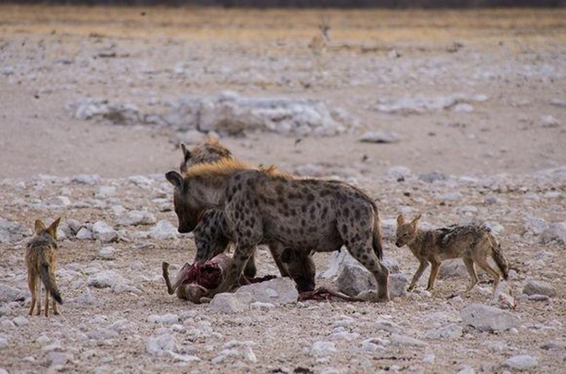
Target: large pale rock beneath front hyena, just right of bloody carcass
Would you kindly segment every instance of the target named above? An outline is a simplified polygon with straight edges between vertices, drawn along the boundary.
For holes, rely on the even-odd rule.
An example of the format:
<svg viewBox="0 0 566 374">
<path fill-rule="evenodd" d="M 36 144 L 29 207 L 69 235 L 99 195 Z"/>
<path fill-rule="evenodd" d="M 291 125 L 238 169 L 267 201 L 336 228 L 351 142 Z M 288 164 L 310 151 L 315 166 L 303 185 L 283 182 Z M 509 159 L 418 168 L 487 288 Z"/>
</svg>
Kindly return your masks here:
<svg viewBox="0 0 566 374">
<path fill-rule="evenodd" d="M 251 301 L 284 305 L 296 303 L 299 293 L 296 291 L 294 281 L 290 278 L 275 278 L 255 284 L 248 284 L 238 288 L 237 293 L 249 293 Z"/>
</svg>

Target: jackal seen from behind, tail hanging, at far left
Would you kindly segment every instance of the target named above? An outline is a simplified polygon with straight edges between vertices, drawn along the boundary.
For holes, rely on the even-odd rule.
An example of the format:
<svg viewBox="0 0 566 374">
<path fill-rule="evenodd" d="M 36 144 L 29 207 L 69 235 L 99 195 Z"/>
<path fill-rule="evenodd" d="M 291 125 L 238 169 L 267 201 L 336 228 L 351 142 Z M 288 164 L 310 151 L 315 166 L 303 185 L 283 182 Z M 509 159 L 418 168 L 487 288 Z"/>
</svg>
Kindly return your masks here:
<svg viewBox="0 0 566 374">
<path fill-rule="evenodd" d="M 49 299 L 53 298 L 53 314 L 59 315 L 57 303 L 62 304 L 61 293 L 55 284 L 57 267 L 57 218 L 48 228 L 39 219 L 35 221 L 35 236 L 26 245 L 25 264 L 28 267 L 28 286 L 31 292 L 29 315 L 41 314 L 41 284 L 45 286 L 45 317 L 49 317 Z M 36 308 L 37 306 L 37 308 Z"/>
</svg>

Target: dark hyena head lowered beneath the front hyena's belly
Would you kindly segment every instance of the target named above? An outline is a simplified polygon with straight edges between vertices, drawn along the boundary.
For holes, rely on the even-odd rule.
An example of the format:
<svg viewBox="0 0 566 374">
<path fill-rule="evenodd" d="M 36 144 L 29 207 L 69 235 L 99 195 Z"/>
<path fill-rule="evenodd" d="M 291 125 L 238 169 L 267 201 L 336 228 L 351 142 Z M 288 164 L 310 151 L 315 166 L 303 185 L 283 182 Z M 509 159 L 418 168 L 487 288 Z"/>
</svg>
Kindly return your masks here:
<svg viewBox="0 0 566 374">
<path fill-rule="evenodd" d="M 297 291 L 314 290 L 316 269 L 310 252 L 285 248 L 281 253 L 281 262 L 295 281 Z"/>
</svg>

